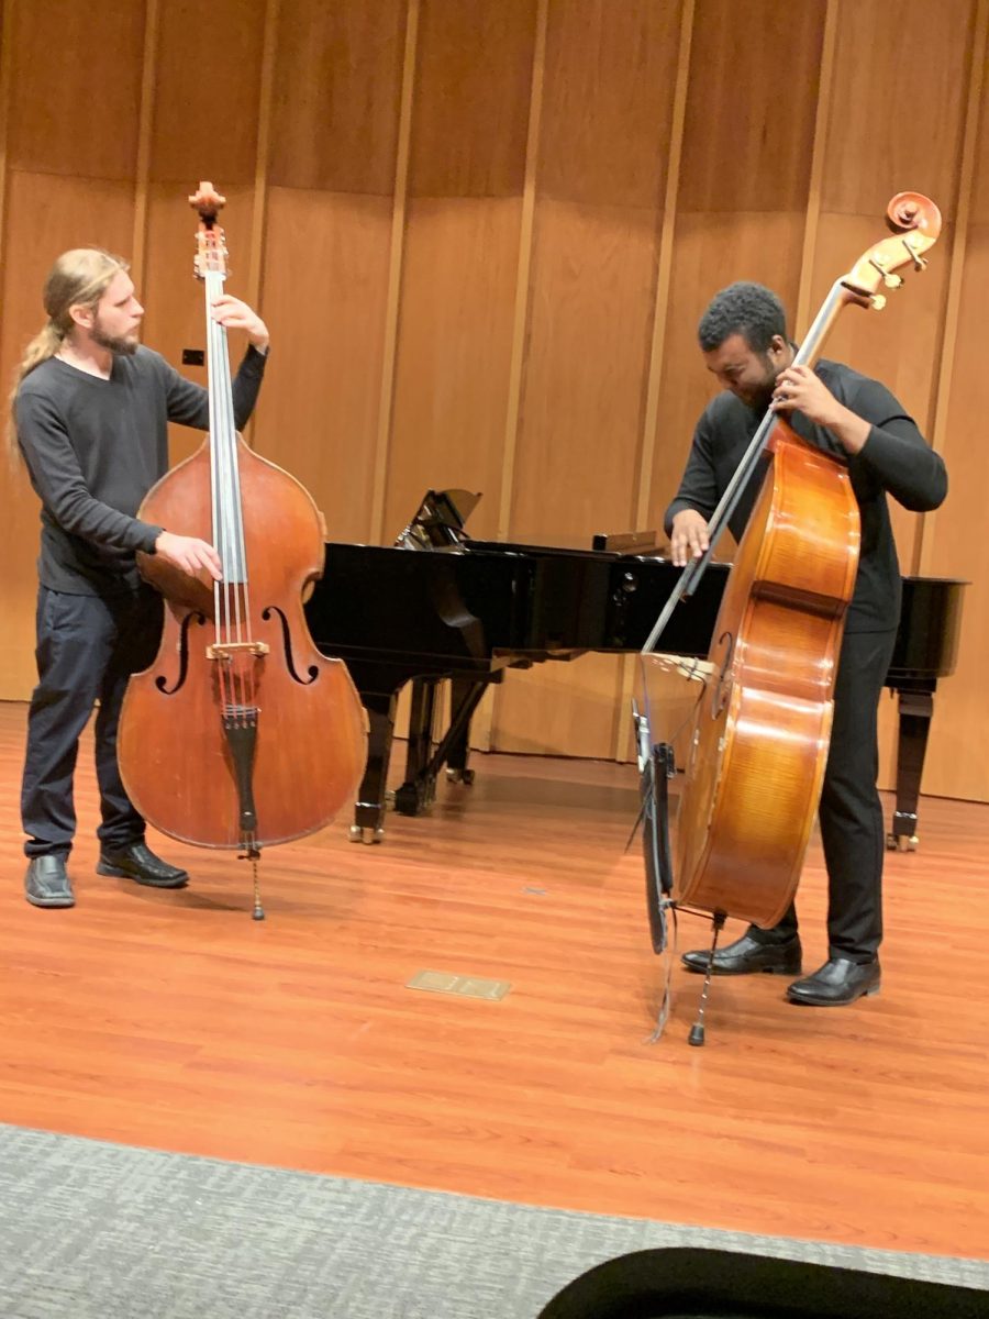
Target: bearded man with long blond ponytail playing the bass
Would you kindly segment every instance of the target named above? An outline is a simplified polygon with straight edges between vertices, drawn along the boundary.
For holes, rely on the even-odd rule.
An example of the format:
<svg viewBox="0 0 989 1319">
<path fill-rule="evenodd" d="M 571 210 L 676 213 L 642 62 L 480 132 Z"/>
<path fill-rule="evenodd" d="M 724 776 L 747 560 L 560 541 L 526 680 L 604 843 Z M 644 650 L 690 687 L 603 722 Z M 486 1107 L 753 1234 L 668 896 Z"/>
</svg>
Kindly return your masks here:
<svg viewBox="0 0 989 1319">
<path fill-rule="evenodd" d="M 132 673 L 153 660 L 161 600 L 137 574 L 136 553 L 220 578 L 206 541 L 136 514 L 167 470 L 167 422 L 208 429 L 208 394 L 138 343 L 144 307 L 127 262 L 99 248 L 58 257 L 44 290 L 47 321 L 17 369 L 11 435 L 41 499 L 38 685 L 28 716 L 21 818 L 34 906 L 73 906 L 67 857 L 75 836 L 73 777 L 94 706 L 102 823 L 98 873 L 156 888 L 189 876 L 145 843 L 145 822 L 120 780 L 116 733 Z M 268 330 L 229 295 L 212 305 L 223 326 L 247 332 L 233 381 L 237 427 L 264 376 Z"/>
</svg>

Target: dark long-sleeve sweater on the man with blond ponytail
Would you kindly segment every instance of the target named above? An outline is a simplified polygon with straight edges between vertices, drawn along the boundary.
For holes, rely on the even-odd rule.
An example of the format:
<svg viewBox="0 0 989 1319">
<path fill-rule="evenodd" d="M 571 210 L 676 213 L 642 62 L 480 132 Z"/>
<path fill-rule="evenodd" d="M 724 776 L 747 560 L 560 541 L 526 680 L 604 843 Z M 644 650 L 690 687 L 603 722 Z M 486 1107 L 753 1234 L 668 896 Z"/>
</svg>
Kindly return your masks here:
<svg viewBox="0 0 989 1319">
<path fill-rule="evenodd" d="M 232 384 L 237 429 L 253 412 L 266 356 L 248 348 Z M 170 421 L 208 430 L 208 393 L 150 348 L 116 355 L 108 380 L 49 357 L 17 390 L 17 439 L 41 499 L 42 586 L 116 595 L 135 553 L 161 534 L 136 517 L 169 466 Z"/>
</svg>

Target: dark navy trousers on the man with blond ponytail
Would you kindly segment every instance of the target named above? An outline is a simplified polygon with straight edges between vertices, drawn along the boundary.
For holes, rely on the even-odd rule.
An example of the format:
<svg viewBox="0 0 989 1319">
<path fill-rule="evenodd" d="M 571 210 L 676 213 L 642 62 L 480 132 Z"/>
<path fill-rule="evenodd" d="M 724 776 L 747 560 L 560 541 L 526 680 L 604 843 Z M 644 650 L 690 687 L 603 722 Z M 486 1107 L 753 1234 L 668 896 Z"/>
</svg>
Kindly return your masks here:
<svg viewBox="0 0 989 1319">
<path fill-rule="evenodd" d="M 124 791 L 117 768 L 117 723 L 127 681 L 146 669 L 161 637 L 161 599 L 141 586 L 115 596 L 38 590 L 38 685 L 28 715 L 21 819 L 28 856 L 66 856 L 75 836 L 73 777 L 79 736 L 99 700 L 96 781 L 104 848 L 144 838 L 144 819 Z"/>
</svg>

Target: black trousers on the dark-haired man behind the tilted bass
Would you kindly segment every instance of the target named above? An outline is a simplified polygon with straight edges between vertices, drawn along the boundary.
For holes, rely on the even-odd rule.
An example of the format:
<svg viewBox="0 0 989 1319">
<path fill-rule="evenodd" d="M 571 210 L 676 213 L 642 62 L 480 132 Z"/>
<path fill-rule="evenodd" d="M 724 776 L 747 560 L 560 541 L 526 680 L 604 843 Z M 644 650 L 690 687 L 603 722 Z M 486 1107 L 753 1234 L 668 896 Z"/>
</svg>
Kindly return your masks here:
<svg viewBox="0 0 989 1319">
<path fill-rule="evenodd" d="M 845 633 L 835 679 L 818 819 L 828 871 L 828 956 L 852 962 L 870 962 L 882 942 L 886 831 L 876 787 L 878 707 L 895 638 L 895 629 Z M 795 906 L 773 933 L 796 933 Z"/>
</svg>

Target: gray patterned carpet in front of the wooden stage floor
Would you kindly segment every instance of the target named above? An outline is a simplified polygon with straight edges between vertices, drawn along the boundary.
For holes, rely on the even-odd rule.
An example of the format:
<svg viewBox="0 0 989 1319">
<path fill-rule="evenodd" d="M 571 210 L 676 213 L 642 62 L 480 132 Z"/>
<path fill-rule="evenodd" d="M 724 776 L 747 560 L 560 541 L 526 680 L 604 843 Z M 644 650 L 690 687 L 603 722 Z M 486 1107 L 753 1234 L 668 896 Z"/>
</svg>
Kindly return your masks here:
<svg viewBox="0 0 989 1319">
<path fill-rule="evenodd" d="M 989 1293 L 989 1264 L 974 1260 L 698 1232 L 0 1125 L 3 1319 L 534 1319 L 596 1264 L 683 1245 Z"/>
</svg>

